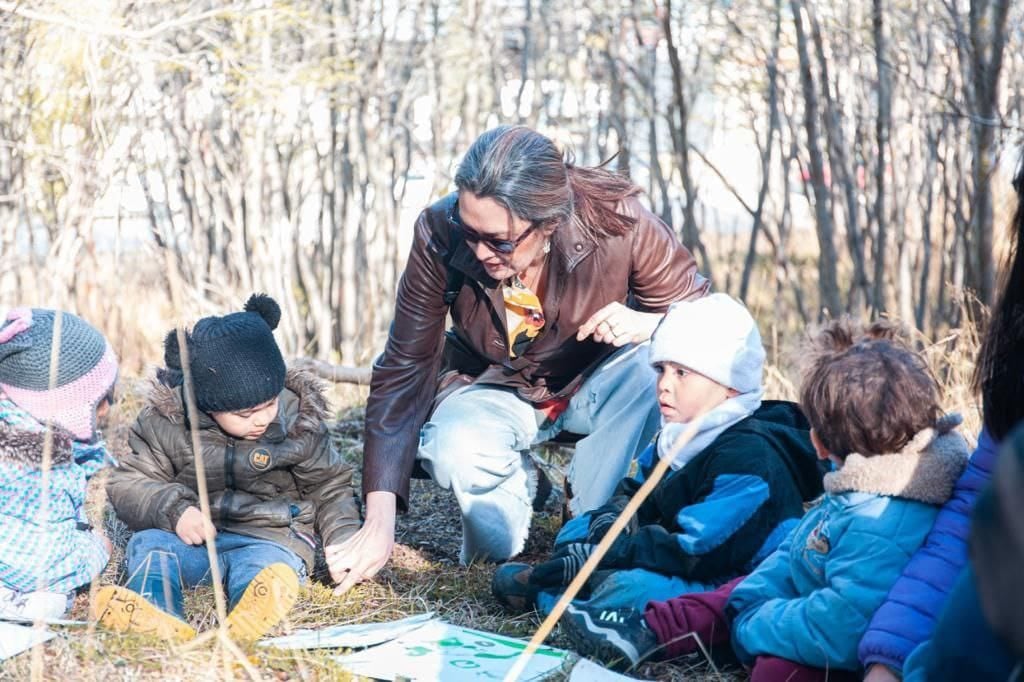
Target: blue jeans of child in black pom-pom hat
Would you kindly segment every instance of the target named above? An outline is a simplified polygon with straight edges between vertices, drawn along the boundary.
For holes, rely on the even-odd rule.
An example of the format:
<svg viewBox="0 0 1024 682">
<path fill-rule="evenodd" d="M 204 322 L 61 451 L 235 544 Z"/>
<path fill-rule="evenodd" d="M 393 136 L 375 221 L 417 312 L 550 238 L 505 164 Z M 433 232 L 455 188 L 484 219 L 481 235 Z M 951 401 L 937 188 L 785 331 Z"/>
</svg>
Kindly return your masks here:
<svg viewBox="0 0 1024 682">
<path fill-rule="evenodd" d="M 285 563 L 302 581 L 306 566 L 281 545 L 233 532 L 218 532 L 217 565 L 227 592 L 228 610 L 234 607 L 256 573 L 271 563 Z M 173 532 L 140 530 L 128 543 L 130 590 L 172 615 L 182 616 L 181 586 L 210 585 L 210 559 L 206 545 L 187 545 Z"/>
</svg>

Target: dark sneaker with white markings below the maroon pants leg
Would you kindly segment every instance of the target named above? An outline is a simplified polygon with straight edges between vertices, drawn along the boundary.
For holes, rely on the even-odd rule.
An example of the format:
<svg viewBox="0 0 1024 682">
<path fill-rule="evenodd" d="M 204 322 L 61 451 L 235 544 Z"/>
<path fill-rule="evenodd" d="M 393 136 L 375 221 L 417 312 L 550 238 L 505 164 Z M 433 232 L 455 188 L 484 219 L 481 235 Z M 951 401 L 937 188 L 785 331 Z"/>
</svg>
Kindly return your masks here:
<svg viewBox="0 0 1024 682">
<path fill-rule="evenodd" d="M 562 631 L 575 650 L 612 670 L 636 668 L 657 650 L 657 637 L 635 608 L 594 608 L 569 604 Z"/>
</svg>

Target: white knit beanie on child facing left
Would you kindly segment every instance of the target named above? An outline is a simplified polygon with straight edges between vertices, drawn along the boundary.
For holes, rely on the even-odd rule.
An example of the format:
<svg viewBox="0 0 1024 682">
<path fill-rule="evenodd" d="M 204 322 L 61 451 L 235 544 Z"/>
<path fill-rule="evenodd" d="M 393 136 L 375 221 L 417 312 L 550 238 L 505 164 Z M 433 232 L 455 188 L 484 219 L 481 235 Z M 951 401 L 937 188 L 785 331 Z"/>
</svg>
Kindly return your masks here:
<svg viewBox="0 0 1024 682">
<path fill-rule="evenodd" d="M 666 361 L 748 393 L 761 388 L 765 349 L 743 304 L 711 294 L 669 308 L 650 340 L 650 364 Z"/>
</svg>

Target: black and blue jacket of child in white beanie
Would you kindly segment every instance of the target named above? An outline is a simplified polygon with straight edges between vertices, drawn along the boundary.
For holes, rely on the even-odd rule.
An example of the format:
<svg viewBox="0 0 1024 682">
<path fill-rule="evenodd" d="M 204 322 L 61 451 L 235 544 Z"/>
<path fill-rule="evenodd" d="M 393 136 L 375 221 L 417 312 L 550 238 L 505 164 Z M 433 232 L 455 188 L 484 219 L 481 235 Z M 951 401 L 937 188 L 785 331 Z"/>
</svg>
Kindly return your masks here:
<svg viewBox="0 0 1024 682">
<path fill-rule="evenodd" d="M 625 508 L 653 469 L 656 444 L 640 456 L 637 476 L 624 479 L 592 518 Z M 658 483 L 601 567 L 701 582 L 748 572 L 796 527 L 804 503 L 821 495 L 826 470 L 797 404 L 765 400 Z"/>
</svg>

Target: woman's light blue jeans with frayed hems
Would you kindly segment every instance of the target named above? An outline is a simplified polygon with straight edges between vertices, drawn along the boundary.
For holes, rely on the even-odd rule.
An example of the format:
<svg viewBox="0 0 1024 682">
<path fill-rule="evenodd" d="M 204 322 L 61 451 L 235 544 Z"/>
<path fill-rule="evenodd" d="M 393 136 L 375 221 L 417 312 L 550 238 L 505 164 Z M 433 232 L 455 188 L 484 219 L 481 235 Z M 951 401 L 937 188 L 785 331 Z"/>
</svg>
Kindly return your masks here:
<svg viewBox="0 0 1024 682">
<path fill-rule="evenodd" d="M 586 435 L 566 473 L 572 514 L 608 500 L 660 423 L 648 345 L 611 355 L 543 430 L 543 415 L 506 388 L 467 386 L 437 407 L 420 433 L 418 458 L 459 501 L 464 564 L 505 561 L 522 551 L 536 488 L 528 451 L 560 431 Z"/>
</svg>

